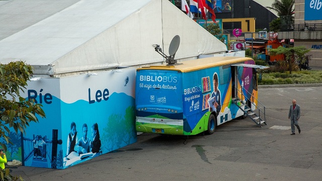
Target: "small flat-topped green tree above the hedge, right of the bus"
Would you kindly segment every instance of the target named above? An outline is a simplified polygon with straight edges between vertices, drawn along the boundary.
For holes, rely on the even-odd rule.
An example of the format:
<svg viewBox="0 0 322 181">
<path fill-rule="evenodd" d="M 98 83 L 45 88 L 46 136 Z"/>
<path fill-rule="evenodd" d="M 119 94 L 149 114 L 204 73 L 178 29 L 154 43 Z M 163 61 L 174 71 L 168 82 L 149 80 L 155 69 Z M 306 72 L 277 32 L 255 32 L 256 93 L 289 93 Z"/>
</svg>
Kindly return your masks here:
<svg viewBox="0 0 322 181">
<path fill-rule="evenodd" d="M 290 47 L 290 48 L 284 48 L 282 46 L 279 46 L 276 49 L 270 48 L 270 54 L 271 55 L 281 55 L 284 54 L 285 60 L 284 63 L 287 64 L 287 68 L 289 69 L 290 74 L 292 73 L 292 67 L 295 65 L 295 55 L 297 57 L 303 57 L 304 54 L 311 51 L 310 49 L 306 49 L 304 46 L 298 46 L 298 47 Z"/>
</svg>

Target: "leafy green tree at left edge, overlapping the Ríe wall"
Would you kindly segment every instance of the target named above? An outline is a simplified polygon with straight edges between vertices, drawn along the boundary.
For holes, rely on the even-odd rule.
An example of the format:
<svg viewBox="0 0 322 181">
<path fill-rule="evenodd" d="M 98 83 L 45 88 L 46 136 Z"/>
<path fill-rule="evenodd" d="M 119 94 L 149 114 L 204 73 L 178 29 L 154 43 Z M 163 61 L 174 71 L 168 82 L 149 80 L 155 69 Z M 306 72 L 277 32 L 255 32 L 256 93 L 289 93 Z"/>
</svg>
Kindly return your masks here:
<svg viewBox="0 0 322 181">
<path fill-rule="evenodd" d="M 7 143 L 12 144 L 9 128 L 13 127 L 16 133 L 25 133 L 30 122 L 38 122 L 36 115 L 45 117 L 42 105 L 20 96 L 31 74 L 32 66 L 23 61 L 0 63 L 0 138 Z M 0 145 L 7 150 L 6 144 Z"/>
</svg>

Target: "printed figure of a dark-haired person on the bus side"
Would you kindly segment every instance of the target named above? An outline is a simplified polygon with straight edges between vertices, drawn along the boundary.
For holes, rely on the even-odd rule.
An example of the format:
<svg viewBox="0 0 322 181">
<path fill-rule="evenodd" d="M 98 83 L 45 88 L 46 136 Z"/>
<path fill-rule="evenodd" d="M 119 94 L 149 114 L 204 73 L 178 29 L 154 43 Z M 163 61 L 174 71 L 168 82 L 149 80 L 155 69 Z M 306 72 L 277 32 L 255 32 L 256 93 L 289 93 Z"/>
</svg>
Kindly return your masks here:
<svg viewBox="0 0 322 181">
<path fill-rule="evenodd" d="M 213 92 L 210 95 L 210 98 L 208 100 L 209 104 L 209 111 L 215 111 L 216 116 L 218 116 L 220 110 L 221 110 L 221 96 L 220 96 L 220 91 L 218 89 L 218 75 L 215 72 L 213 74 Z M 215 110 L 214 110 L 215 109 Z"/>
</svg>

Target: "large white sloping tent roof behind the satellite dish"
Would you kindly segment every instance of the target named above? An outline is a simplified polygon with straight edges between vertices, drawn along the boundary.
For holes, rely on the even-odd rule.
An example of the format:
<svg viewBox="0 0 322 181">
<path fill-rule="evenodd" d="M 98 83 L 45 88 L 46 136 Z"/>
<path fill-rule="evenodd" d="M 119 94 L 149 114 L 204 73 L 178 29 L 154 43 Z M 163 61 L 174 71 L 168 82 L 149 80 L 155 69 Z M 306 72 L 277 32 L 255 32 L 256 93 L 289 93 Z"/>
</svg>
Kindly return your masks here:
<svg viewBox="0 0 322 181">
<path fill-rule="evenodd" d="M 151 45 L 169 54 L 175 35 L 181 38 L 175 59 L 226 50 L 168 0 L 6 1 L 0 30 L 0 63 L 23 60 L 35 74 L 51 76 L 160 64 Z"/>
</svg>

